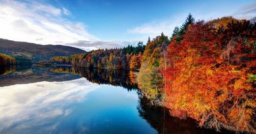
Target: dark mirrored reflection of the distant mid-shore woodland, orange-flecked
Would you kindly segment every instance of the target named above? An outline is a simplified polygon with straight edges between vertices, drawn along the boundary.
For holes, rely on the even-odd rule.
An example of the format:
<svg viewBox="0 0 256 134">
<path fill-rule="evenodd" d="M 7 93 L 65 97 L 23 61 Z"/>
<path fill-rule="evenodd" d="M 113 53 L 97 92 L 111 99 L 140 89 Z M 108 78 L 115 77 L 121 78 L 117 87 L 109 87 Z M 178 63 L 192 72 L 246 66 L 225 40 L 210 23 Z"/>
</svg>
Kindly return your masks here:
<svg viewBox="0 0 256 134">
<path fill-rule="evenodd" d="M 75 68 L 72 66 L 55 66 L 49 68 L 49 70 L 56 73 L 72 73 L 81 75 L 90 82 L 121 86 L 128 89 L 128 91 L 138 89 L 138 84 L 136 83 L 136 78 L 134 76 L 136 71 Z"/>
</svg>

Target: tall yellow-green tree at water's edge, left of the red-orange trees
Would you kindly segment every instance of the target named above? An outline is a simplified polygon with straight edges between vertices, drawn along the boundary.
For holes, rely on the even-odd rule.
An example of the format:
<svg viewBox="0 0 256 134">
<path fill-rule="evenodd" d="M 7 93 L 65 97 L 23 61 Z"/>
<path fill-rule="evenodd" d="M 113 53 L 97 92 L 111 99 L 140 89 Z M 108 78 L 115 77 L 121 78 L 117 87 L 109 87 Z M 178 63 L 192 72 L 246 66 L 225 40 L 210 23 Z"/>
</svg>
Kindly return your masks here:
<svg viewBox="0 0 256 134">
<path fill-rule="evenodd" d="M 143 53 L 140 73 L 138 74 L 138 86 L 141 92 L 153 101 L 163 99 L 164 81 L 160 67 L 164 66 L 164 51 L 169 43 L 168 36 L 161 33 L 160 36 L 147 43 Z"/>
</svg>

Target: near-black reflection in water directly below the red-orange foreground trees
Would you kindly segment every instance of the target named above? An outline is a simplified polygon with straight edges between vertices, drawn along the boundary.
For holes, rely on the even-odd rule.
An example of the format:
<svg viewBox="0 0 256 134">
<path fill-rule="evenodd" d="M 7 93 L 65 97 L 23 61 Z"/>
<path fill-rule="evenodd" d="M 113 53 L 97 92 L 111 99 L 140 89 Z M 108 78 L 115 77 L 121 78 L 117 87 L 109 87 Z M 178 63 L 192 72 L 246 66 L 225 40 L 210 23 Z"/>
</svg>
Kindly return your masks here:
<svg viewBox="0 0 256 134">
<path fill-rule="evenodd" d="M 152 128 L 157 130 L 158 133 L 234 133 L 226 130 L 217 132 L 215 130 L 200 128 L 198 124 L 196 124 L 196 121 L 191 118 L 180 119 L 178 117 L 172 117 L 168 113 L 167 108 L 152 105 L 152 102 L 145 98 L 145 96 L 140 96 L 139 99 L 139 105 L 137 108 L 140 117 L 145 119 Z"/>
</svg>

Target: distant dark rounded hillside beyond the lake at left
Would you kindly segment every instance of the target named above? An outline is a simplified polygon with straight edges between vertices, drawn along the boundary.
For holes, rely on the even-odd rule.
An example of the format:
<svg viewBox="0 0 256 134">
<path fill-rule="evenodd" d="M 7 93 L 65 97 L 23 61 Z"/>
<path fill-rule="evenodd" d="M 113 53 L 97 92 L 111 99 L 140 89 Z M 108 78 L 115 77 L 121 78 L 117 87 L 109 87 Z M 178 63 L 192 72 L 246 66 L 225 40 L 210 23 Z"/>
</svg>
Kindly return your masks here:
<svg viewBox="0 0 256 134">
<path fill-rule="evenodd" d="M 84 54 L 86 51 L 63 45 L 39 45 L 0 38 L 0 53 L 8 54 L 16 59 L 29 59 L 32 63 L 37 63 L 38 61 L 50 59 L 54 56 Z"/>
</svg>

